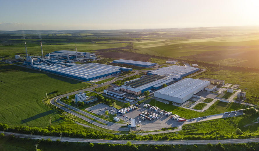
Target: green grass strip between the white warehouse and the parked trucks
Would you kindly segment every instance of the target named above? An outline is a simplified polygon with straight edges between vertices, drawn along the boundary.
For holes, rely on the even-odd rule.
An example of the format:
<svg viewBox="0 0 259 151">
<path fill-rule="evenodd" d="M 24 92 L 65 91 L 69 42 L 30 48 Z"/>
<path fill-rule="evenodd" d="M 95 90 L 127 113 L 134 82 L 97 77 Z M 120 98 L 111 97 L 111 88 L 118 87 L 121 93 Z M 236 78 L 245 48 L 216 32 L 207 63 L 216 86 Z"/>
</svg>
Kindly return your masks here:
<svg viewBox="0 0 259 151">
<path fill-rule="evenodd" d="M 239 104 L 235 104 L 235 103 L 229 104 L 229 103 L 217 101 L 212 106 L 210 106 L 205 112 L 196 112 L 196 111 L 192 111 L 190 109 L 185 109 L 185 108 L 177 107 L 174 105 L 164 104 L 159 101 L 155 102 L 155 99 L 152 99 L 149 104 L 156 105 L 160 109 L 164 109 L 168 112 L 172 112 L 173 114 L 177 114 L 186 119 L 197 118 L 199 116 L 214 115 L 214 114 L 224 113 L 226 111 L 233 111 L 233 110 L 245 109 L 245 108 L 250 107 L 250 106 L 239 105 Z"/>
</svg>

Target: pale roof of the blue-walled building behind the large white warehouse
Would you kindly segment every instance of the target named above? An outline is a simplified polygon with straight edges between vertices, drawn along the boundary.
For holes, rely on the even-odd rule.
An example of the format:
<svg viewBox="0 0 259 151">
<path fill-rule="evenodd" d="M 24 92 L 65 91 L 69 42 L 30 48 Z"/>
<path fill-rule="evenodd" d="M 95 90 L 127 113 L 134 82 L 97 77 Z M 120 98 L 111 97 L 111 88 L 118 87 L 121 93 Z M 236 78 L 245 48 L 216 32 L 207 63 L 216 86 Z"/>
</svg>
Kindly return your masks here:
<svg viewBox="0 0 259 151">
<path fill-rule="evenodd" d="M 164 67 L 164 68 L 157 69 L 157 70 L 152 70 L 152 71 L 148 72 L 148 75 L 157 74 L 160 76 L 181 76 L 181 77 L 183 77 L 183 76 L 187 76 L 191 73 L 194 73 L 198 70 L 199 70 L 199 68 L 173 65 L 173 66 L 168 66 L 168 67 Z"/>
</svg>

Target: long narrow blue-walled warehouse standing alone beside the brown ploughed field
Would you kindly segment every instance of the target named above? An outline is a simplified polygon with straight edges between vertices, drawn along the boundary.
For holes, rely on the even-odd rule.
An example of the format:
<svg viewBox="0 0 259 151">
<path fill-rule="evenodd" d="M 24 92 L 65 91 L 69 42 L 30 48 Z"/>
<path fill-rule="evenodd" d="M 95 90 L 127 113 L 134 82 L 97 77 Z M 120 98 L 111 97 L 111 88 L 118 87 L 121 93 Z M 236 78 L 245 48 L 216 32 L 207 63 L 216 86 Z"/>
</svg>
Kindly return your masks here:
<svg viewBox="0 0 259 151">
<path fill-rule="evenodd" d="M 129 64 L 133 66 L 141 66 L 146 68 L 150 68 L 151 66 L 157 65 L 157 63 L 152 63 L 152 62 L 142 62 L 142 61 L 124 60 L 124 59 L 114 60 L 112 63 Z"/>
</svg>

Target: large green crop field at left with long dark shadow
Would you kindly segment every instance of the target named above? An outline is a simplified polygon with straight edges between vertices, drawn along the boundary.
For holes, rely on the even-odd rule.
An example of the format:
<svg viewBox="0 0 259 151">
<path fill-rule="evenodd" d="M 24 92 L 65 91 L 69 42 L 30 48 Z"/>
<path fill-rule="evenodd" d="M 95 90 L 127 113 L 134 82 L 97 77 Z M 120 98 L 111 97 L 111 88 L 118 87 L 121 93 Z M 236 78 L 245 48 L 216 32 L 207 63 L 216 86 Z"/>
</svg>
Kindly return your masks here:
<svg viewBox="0 0 259 151">
<path fill-rule="evenodd" d="M 41 102 L 45 93 L 68 92 L 89 83 L 80 82 L 32 69 L 0 63 L 0 123 L 10 126 L 45 127 L 62 122 L 57 112 Z"/>
</svg>

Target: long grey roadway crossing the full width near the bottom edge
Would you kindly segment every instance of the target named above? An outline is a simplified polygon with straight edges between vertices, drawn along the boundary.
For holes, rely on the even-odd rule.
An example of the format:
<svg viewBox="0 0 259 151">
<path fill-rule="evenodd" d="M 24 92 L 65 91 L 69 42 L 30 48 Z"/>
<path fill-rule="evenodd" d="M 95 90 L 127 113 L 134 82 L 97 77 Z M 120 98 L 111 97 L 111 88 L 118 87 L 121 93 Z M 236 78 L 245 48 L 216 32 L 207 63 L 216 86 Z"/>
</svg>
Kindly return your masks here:
<svg viewBox="0 0 259 151">
<path fill-rule="evenodd" d="M 0 133 L 3 133 L 0 131 Z M 12 132 L 4 132 L 5 136 L 14 135 L 20 138 L 30 138 L 30 139 L 51 139 L 52 141 L 60 140 L 60 137 L 56 136 L 40 136 L 40 135 L 29 135 L 29 134 L 19 134 Z M 111 143 L 111 144 L 126 144 L 126 140 L 104 140 L 104 139 L 80 139 L 80 138 L 70 138 L 70 137 L 61 137 L 61 141 L 65 142 L 91 142 L 91 143 Z M 259 142 L 259 138 L 254 139 L 225 139 L 225 140 L 190 140 L 190 141 L 130 141 L 132 144 L 153 144 L 153 145 L 192 145 L 192 144 L 203 144 L 208 143 L 217 144 L 217 143 L 252 143 Z"/>
</svg>

